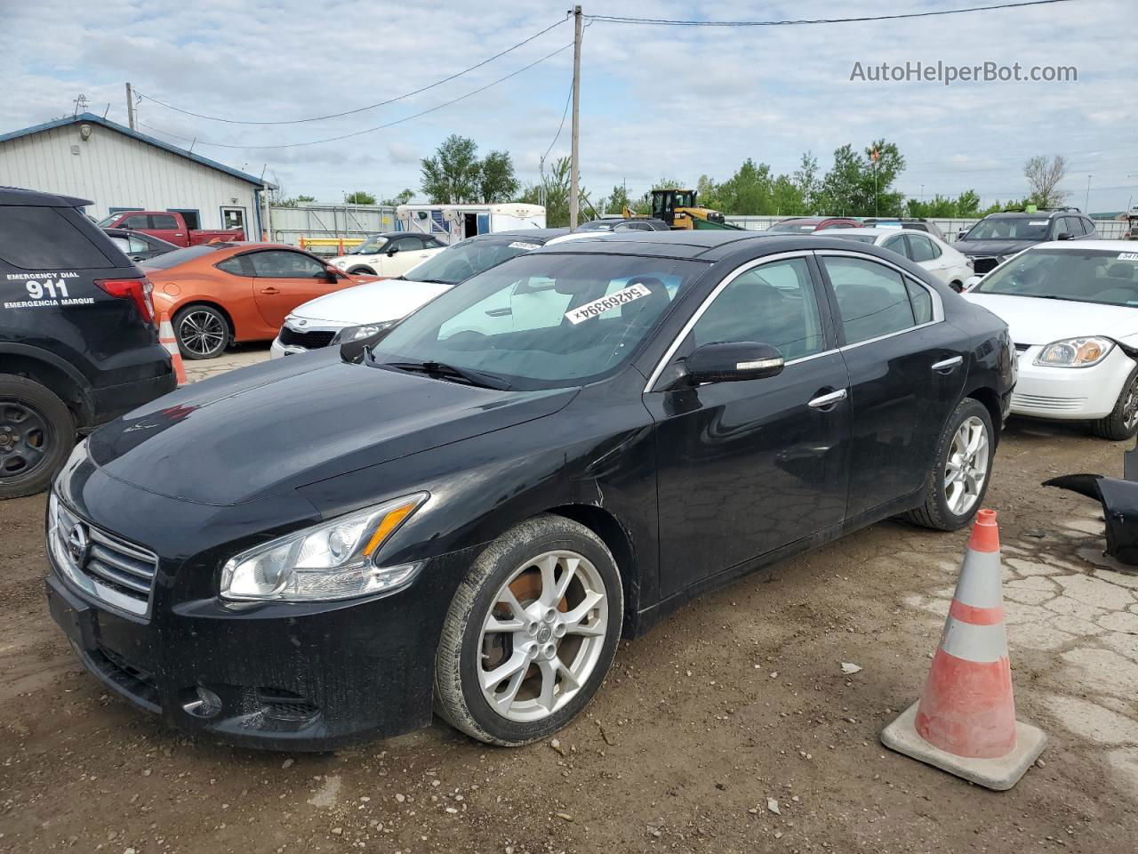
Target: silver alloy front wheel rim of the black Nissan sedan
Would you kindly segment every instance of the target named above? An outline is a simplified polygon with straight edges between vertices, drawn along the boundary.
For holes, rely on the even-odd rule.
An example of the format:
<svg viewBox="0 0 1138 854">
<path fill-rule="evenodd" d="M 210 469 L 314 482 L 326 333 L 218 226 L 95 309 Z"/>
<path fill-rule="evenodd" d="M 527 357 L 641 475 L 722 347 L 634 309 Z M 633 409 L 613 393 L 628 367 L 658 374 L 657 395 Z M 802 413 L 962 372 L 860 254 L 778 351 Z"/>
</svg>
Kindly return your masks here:
<svg viewBox="0 0 1138 854">
<path fill-rule="evenodd" d="M 483 621 L 483 697 L 510 721 L 549 717 L 592 675 L 608 625 L 608 592 L 588 558 L 549 551 L 527 560 L 498 589 Z"/>
</svg>

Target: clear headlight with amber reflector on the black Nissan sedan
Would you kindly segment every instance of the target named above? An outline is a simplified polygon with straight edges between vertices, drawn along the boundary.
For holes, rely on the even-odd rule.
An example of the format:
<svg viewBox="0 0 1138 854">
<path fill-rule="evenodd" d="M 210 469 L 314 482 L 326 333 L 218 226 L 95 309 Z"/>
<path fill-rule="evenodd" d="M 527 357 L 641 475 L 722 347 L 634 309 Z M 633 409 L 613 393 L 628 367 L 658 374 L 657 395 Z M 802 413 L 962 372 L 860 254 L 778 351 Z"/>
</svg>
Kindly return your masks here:
<svg viewBox="0 0 1138 854">
<path fill-rule="evenodd" d="M 221 596 L 239 601 L 353 599 L 409 582 L 419 564 L 381 567 L 376 556 L 427 493 L 385 501 L 230 558 Z"/>
</svg>

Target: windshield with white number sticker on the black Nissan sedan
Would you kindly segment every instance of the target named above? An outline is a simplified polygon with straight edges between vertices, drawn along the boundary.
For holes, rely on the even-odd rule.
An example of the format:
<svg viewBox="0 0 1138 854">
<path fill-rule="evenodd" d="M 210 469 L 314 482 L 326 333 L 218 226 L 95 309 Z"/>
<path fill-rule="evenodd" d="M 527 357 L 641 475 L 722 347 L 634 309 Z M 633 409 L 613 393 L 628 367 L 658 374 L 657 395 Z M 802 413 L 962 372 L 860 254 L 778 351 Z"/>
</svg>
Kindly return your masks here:
<svg viewBox="0 0 1138 854">
<path fill-rule="evenodd" d="M 411 314 L 376 345 L 373 363 L 438 362 L 517 389 L 584 385 L 626 362 L 707 269 L 627 255 L 517 257 Z"/>
</svg>

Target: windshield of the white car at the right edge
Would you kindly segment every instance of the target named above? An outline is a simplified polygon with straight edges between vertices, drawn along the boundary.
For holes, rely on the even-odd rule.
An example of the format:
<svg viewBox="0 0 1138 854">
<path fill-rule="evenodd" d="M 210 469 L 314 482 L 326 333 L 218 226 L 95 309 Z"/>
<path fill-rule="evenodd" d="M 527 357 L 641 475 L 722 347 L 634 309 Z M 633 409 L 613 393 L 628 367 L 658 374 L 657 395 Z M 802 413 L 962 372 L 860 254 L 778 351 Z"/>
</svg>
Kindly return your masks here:
<svg viewBox="0 0 1138 854">
<path fill-rule="evenodd" d="M 1031 249 L 990 272 L 973 291 L 1136 307 L 1138 253 Z"/>
</svg>

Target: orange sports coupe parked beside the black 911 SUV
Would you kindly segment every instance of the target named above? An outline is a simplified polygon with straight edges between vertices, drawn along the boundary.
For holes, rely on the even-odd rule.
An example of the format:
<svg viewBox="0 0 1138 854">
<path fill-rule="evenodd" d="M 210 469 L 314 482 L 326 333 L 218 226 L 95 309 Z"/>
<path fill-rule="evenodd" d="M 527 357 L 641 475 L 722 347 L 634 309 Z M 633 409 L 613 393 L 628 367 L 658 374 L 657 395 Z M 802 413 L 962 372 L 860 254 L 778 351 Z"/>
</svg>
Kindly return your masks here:
<svg viewBox="0 0 1138 854">
<path fill-rule="evenodd" d="M 185 359 L 213 359 L 233 342 L 272 340 L 300 303 L 377 278 L 349 276 L 280 244 L 203 244 L 139 266 Z"/>
</svg>

